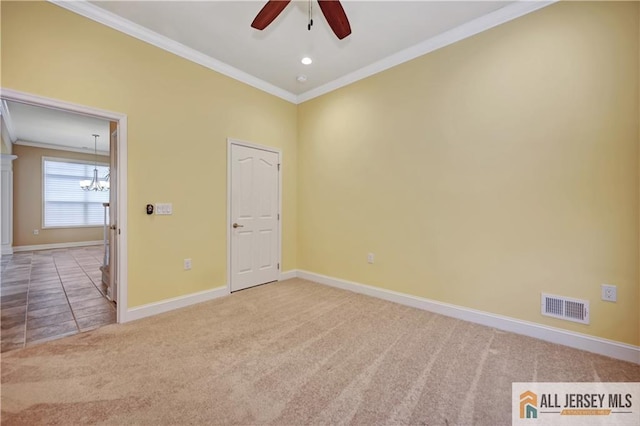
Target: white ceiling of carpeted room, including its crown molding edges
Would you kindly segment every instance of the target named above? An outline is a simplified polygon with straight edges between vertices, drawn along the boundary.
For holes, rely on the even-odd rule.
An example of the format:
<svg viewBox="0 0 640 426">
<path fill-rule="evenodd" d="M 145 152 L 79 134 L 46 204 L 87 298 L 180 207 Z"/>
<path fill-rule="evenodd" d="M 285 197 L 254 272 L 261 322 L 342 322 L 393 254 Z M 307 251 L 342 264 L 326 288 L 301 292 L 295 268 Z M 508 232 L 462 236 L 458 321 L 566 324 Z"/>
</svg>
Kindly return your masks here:
<svg viewBox="0 0 640 426">
<path fill-rule="evenodd" d="M 315 0 L 292 1 L 264 31 L 250 24 L 266 0 L 51 1 L 294 103 L 551 3 L 343 0 L 352 34 L 338 40 Z"/>
</svg>

